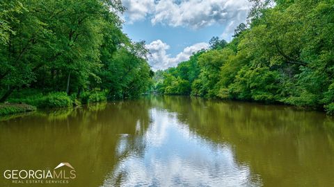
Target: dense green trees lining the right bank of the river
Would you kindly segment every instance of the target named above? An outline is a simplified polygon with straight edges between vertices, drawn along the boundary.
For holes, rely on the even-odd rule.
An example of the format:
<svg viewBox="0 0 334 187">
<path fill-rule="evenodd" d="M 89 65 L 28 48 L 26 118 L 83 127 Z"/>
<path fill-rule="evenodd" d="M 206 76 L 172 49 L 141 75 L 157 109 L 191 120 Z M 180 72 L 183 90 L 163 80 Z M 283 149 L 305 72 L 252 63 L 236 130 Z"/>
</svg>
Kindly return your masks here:
<svg viewBox="0 0 334 187">
<path fill-rule="evenodd" d="M 227 43 L 158 71 L 155 89 L 179 94 L 285 103 L 334 112 L 334 1 L 253 1 Z"/>
</svg>

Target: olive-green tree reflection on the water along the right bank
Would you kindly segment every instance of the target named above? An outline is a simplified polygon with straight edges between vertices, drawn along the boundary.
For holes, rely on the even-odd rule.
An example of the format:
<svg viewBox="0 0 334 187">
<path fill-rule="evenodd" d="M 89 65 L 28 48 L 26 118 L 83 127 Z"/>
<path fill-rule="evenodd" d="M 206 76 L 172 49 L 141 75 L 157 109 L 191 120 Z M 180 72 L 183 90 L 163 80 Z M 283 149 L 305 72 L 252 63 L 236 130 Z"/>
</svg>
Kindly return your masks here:
<svg viewBox="0 0 334 187">
<path fill-rule="evenodd" d="M 154 100 L 203 139 L 229 143 L 264 186 L 334 186 L 334 121 L 321 112 L 200 98 Z"/>
</svg>

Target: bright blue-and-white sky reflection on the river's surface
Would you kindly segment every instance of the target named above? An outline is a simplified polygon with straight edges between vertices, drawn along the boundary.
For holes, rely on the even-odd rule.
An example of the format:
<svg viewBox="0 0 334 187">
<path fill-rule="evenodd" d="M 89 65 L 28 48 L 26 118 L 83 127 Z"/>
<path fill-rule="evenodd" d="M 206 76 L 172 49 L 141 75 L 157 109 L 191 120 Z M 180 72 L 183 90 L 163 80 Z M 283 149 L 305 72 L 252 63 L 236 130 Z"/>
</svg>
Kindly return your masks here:
<svg viewBox="0 0 334 187">
<path fill-rule="evenodd" d="M 230 145 L 193 134 L 176 113 L 154 108 L 150 116 L 152 123 L 143 136 L 136 141 L 122 136 L 122 159 L 102 186 L 260 186 L 260 178 L 234 159 Z M 144 152 L 136 152 L 143 147 Z"/>
</svg>

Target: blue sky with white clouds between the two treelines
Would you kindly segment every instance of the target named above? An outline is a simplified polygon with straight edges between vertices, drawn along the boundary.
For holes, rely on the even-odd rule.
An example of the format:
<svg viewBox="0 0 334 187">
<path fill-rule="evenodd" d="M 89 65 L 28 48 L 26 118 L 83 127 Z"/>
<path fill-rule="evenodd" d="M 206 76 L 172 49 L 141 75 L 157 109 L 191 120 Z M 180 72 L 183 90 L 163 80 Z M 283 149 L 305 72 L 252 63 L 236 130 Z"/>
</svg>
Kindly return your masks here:
<svg viewBox="0 0 334 187">
<path fill-rule="evenodd" d="M 208 48 L 209 39 L 230 42 L 246 21 L 248 0 L 122 0 L 123 30 L 134 42 L 145 40 L 154 71 L 177 66 Z"/>
</svg>

